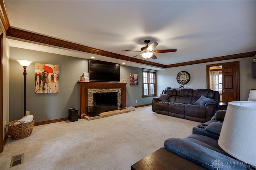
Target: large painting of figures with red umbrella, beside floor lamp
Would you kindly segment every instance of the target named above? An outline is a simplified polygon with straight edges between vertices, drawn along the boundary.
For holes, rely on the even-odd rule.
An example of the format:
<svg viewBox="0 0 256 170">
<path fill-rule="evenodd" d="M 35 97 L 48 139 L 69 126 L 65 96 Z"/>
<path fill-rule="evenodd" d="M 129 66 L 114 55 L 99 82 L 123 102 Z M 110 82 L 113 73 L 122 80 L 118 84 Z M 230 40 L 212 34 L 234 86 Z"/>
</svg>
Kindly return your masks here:
<svg viewBox="0 0 256 170">
<path fill-rule="evenodd" d="M 59 65 L 35 63 L 35 93 L 59 93 Z"/>
</svg>

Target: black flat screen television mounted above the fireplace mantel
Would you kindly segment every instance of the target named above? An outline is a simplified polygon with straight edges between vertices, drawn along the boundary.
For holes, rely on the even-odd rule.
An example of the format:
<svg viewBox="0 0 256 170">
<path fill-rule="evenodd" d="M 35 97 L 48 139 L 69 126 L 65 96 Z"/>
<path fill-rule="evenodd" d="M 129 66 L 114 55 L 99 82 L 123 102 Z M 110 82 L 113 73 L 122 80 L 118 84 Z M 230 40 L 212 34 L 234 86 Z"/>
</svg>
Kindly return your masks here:
<svg viewBox="0 0 256 170">
<path fill-rule="evenodd" d="M 120 64 L 90 59 L 89 81 L 120 81 Z"/>
</svg>

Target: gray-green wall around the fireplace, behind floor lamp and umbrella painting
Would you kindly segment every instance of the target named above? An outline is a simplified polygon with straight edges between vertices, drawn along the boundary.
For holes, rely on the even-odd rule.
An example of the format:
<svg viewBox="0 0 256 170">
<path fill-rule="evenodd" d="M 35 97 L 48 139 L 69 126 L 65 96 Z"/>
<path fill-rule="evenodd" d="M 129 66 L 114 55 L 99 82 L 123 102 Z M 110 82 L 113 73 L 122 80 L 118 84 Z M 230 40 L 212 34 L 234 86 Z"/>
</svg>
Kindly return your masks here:
<svg viewBox="0 0 256 170">
<path fill-rule="evenodd" d="M 10 47 L 10 121 L 23 116 L 23 67 L 17 59 L 33 61 L 26 71 L 26 110 L 34 115 L 35 122 L 66 118 L 70 107 L 80 113 L 77 81 L 83 72 L 88 72 L 87 59 Z M 35 63 L 59 65 L 59 93 L 35 94 Z M 120 73 L 120 78 L 127 77 L 126 106 L 151 103 L 152 97 L 142 98 L 141 81 L 136 86 L 129 83 L 130 73 L 138 73 L 141 79 L 141 68 L 121 65 Z"/>
</svg>

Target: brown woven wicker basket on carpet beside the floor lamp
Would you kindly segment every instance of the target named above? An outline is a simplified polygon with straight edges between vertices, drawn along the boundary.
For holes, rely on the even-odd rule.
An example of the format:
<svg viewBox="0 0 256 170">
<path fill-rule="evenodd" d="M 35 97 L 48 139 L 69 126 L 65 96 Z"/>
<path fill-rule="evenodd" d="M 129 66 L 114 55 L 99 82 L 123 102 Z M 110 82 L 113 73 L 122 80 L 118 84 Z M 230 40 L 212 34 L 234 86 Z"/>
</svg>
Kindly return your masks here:
<svg viewBox="0 0 256 170">
<path fill-rule="evenodd" d="M 34 128 L 34 121 L 35 119 L 33 119 L 32 122 L 28 122 L 28 123 L 21 123 L 21 125 L 14 125 L 15 122 L 18 122 L 18 120 L 16 121 L 11 121 L 8 123 L 8 130 L 9 130 L 9 134 L 11 136 L 12 139 L 22 139 L 22 138 L 26 138 L 28 136 L 30 136 L 30 134 L 32 133 L 32 130 Z"/>
</svg>

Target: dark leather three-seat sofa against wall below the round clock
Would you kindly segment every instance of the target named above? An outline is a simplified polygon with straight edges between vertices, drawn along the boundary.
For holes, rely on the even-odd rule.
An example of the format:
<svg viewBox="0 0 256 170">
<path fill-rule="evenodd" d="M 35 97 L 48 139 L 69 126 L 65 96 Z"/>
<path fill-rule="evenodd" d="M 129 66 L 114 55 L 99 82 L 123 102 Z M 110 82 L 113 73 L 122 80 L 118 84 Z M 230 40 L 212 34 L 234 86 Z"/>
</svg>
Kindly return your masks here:
<svg viewBox="0 0 256 170">
<path fill-rule="evenodd" d="M 197 122 L 209 121 L 218 110 L 220 93 L 210 89 L 165 89 L 152 99 L 152 111 Z"/>
</svg>

